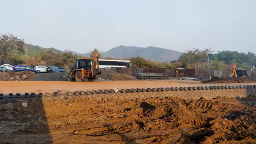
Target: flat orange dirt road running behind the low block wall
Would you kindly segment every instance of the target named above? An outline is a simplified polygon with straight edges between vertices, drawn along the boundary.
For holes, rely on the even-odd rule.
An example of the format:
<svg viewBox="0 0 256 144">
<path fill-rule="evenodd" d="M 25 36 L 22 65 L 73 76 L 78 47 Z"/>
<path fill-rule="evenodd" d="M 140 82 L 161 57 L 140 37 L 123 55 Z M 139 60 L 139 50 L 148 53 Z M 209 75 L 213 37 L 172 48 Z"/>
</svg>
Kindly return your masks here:
<svg viewBox="0 0 256 144">
<path fill-rule="evenodd" d="M 248 83 L 255 85 L 256 83 Z M 57 89 L 66 91 L 86 91 L 92 89 L 147 88 L 147 87 L 193 87 L 211 86 L 218 84 L 203 84 L 198 81 L 95 81 L 95 82 L 66 82 L 66 81 L 0 81 L 0 93 L 25 92 L 54 92 Z M 222 85 L 224 85 L 222 83 Z M 232 84 L 229 84 L 232 85 Z M 233 84 L 238 85 L 238 84 Z M 247 83 L 239 83 L 247 85 Z"/>
</svg>

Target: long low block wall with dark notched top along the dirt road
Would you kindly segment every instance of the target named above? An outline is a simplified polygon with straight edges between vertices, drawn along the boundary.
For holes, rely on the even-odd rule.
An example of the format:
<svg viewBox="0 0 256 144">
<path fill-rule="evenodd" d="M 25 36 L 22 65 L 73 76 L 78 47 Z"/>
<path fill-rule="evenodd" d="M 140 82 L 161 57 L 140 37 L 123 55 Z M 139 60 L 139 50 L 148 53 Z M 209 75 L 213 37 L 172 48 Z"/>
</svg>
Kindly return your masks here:
<svg viewBox="0 0 256 144">
<path fill-rule="evenodd" d="M 0 93 L 0 103 L 10 103 L 17 100 L 27 101 L 54 101 L 78 100 L 81 98 L 103 99 L 135 99 L 151 97 L 178 97 L 191 99 L 212 99 L 217 97 L 245 98 L 256 97 L 256 85 L 218 85 L 202 87 L 158 87 L 158 88 L 131 88 L 131 89 L 97 89 L 93 91 L 68 91 L 57 90 L 53 93 Z"/>
</svg>

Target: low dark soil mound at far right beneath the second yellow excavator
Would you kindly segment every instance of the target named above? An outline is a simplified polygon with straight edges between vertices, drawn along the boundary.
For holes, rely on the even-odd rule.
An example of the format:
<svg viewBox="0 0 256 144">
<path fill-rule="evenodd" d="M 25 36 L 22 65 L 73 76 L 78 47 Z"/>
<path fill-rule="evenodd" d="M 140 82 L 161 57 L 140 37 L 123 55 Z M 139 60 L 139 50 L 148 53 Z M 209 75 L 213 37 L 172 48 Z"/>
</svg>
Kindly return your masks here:
<svg viewBox="0 0 256 144">
<path fill-rule="evenodd" d="M 254 77 L 213 77 L 211 80 L 202 81 L 203 83 L 253 83 L 256 82 Z"/>
</svg>

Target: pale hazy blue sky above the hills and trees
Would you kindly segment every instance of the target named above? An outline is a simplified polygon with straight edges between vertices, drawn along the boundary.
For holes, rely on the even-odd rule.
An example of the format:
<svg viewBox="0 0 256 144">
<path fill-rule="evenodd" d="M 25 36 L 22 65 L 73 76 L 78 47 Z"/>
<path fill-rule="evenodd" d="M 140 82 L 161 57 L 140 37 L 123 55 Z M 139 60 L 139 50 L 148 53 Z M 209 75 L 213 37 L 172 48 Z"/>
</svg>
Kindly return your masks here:
<svg viewBox="0 0 256 144">
<path fill-rule="evenodd" d="M 81 53 L 119 45 L 256 53 L 255 6 L 255 0 L 0 0 L 0 33 Z"/>
</svg>

